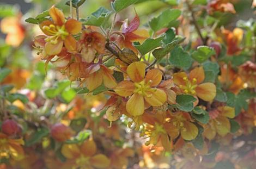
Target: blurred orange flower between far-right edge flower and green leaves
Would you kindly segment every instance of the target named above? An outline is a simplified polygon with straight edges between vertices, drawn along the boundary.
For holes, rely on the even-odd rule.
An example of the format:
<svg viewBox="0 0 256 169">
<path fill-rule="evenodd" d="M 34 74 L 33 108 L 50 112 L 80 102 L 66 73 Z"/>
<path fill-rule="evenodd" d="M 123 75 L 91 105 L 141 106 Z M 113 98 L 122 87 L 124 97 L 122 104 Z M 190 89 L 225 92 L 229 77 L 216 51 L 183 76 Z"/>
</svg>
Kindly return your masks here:
<svg viewBox="0 0 256 169">
<path fill-rule="evenodd" d="M 221 66 L 221 76 L 218 77 L 218 80 L 222 83 L 224 90 L 238 93 L 243 89 L 243 81 L 241 77 L 230 65 Z"/>
</svg>

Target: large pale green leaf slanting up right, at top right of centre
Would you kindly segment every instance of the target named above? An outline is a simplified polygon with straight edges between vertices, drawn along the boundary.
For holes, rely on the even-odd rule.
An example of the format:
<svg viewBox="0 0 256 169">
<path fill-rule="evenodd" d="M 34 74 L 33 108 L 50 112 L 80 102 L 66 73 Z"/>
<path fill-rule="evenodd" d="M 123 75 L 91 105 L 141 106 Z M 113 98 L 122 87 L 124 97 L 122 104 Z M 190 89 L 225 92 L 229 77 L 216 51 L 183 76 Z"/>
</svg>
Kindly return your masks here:
<svg viewBox="0 0 256 169">
<path fill-rule="evenodd" d="M 179 9 L 167 9 L 159 16 L 152 18 L 149 21 L 149 26 L 154 32 L 157 32 L 157 30 L 167 27 L 170 22 L 175 21 L 180 15 L 181 11 Z"/>
</svg>

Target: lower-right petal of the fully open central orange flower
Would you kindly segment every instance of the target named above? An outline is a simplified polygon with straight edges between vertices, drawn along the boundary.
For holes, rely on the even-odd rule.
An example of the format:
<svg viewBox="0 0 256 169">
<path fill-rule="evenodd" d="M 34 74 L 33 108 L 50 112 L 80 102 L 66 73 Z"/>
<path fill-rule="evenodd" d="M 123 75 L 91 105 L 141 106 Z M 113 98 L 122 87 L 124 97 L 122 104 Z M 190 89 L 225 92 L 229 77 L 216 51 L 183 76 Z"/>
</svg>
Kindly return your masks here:
<svg viewBox="0 0 256 169">
<path fill-rule="evenodd" d="M 155 91 L 147 91 L 147 95 L 149 97 L 144 96 L 144 99 L 152 106 L 160 106 L 167 101 L 166 93 L 161 89 L 156 89 Z"/>
</svg>

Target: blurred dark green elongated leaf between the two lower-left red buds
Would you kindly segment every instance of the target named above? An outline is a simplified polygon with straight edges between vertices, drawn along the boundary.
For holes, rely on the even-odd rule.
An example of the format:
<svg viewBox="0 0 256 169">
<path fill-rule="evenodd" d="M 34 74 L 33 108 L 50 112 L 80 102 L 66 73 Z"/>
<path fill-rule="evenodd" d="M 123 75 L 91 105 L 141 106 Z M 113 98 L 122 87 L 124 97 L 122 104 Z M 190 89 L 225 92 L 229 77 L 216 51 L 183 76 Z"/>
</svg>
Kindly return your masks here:
<svg viewBox="0 0 256 169">
<path fill-rule="evenodd" d="M 48 134 L 50 133 L 50 130 L 48 128 L 39 128 L 38 130 L 36 130 L 35 133 L 33 133 L 31 135 L 31 137 L 29 137 L 28 140 L 25 140 L 25 145 L 26 146 L 32 146 L 35 143 L 40 142 L 40 140 L 43 137 L 46 137 Z"/>
</svg>

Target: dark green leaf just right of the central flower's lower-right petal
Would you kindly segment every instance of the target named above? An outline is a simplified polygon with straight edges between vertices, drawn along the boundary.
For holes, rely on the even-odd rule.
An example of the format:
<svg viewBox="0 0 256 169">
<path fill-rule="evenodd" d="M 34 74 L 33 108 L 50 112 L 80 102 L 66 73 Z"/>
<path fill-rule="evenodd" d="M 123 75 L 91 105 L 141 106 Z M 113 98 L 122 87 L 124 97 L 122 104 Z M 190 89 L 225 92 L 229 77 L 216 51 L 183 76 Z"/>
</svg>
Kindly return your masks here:
<svg viewBox="0 0 256 169">
<path fill-rule="evenodd" d="M 176 106 L 182 111 L 192 111 L 194 108 L 193 102 L 196 100 L 191 95 L 178 95 L 176 97 Z"/>
</svg>

